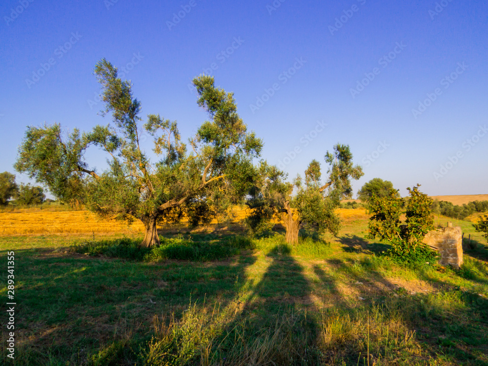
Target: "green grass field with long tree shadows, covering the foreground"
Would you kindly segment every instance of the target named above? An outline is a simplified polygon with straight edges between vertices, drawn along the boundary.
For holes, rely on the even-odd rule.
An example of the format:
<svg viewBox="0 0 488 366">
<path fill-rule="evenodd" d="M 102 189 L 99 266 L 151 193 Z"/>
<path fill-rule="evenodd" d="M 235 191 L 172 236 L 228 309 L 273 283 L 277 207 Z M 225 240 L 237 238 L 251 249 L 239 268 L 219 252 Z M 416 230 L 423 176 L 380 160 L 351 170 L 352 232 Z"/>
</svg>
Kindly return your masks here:
<svg viewBox="0 0 488 366">
<path fill-rule="evenodd" d="M 231 230 L 162 233 L 152 252 L 133 244 L 141 234 L 0 238 L 2 324 L 11 250 L 17 303 L 15 361 L 3 326 L 1 362 L 488 365 L 486 240 L 438 218 L 475 249 L 460 270 L 407 267 L 364 239 L 366 217 L 296 246 Z"/>
</svg>

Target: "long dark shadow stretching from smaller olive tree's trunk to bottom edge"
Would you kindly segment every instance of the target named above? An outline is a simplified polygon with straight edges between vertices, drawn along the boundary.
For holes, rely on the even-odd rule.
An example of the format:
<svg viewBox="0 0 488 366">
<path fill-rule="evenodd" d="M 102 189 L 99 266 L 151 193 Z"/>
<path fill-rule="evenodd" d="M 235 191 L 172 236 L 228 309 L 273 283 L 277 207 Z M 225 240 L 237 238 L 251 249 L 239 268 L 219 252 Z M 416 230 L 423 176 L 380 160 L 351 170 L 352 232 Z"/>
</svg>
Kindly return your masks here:
<svg viewBox="0 0 488 366">
<path fill-rule="evenodd" d="M 271 263 L 226 327 L 219 351 L 232 353 L 239 346 L 237 339 L 248 347 L 244 354 L 250 358 L 240 360 L 246 365 L 319 365 L 319 354 L 311 351 L 316 349 L 317 323 L 307 316 L 312 302 L 304 268 L 286 245 L 275 246 L 267 257 Z"/>
</svg>

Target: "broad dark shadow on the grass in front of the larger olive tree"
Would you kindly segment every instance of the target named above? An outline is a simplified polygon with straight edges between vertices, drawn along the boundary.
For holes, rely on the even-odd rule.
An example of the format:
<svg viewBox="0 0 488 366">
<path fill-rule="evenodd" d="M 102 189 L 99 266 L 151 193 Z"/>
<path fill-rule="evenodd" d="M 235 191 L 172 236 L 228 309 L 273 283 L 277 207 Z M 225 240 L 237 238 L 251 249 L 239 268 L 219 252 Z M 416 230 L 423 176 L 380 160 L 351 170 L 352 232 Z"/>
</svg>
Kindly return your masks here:
<svg viewBox="0 0 488 366">
<path fill-rule="evenodd" d="M 154 315 L 178 317 L 190 300 L 200 308 L 227 306 L 256 261 L 247 252 L 222 261 L 161 264 L 36 249 L 15 250 L 15 256 L 19 365 L 41 365 L 49 357 L 78 365 L 124 332 L 137 350 L 150 339 Z"/>
</svg>

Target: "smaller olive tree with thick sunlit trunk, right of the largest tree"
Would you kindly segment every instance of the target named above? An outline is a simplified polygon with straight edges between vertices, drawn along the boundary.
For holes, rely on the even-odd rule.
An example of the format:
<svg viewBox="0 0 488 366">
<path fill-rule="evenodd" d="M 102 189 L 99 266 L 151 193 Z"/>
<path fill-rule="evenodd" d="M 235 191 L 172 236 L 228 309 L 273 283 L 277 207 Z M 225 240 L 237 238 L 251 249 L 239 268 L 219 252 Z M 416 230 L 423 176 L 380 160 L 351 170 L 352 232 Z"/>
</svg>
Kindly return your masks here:
<svg viewBox="0 0 488 366">
<path fill-rule="evenodd" d="M 305 181 L 298 176 L 293 183 L 286 182 L 286 174 L 275 166 L 263 162 L 257 173 L 255 185 L 246 202 L 252 209 L 247 218 L 251 230 L 266 227 L 274 216 L 286 229 L 289 244 L 298 243 L 300 226 L 316 228 L 319 232 L 337 234 L 340 220 L 334 213 L 340 200 L 350 198 L 350 179 L 363 175 L 360 166 L 353 166 L 349 146 L 337 144 L 334 152 L 327 151 L 325 162 L 329 164 L 326 183 L 321 182 L 320 163 L 313 160 L 305 170 Z"/>
</svg>

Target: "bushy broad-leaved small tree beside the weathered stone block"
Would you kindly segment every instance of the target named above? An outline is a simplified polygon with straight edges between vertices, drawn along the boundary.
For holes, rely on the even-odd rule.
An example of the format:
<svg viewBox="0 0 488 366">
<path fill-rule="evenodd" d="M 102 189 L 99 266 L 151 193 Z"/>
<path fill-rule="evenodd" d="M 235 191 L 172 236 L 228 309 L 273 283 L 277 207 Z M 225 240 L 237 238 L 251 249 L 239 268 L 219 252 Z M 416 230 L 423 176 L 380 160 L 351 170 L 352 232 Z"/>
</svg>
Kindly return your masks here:
<svg viewBox="0 0 488 366">
<path fill-rule="evenodd" d="M 422 243 L 425 235 L 434 228 L 434 217 L 430 211 L 432 199 L 420 192 L 419 186 L 407 188 L 407 200 L 398 197 L 397 191 L 390 191 L 389 196 L 373 196 L 370 201 L 369 209 L 373 215 L 367 237 L 390 243 L 390 254 L 407 261 L 433 256 L 433 251 Z M 402 214 L 407 218 L 404 224 L 400 219 Z"/>
</svg>

